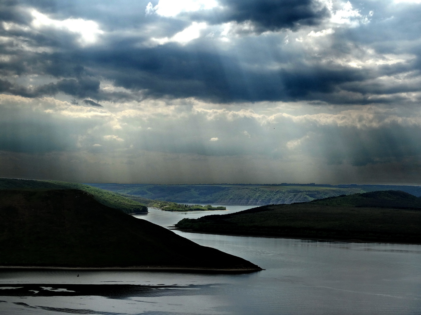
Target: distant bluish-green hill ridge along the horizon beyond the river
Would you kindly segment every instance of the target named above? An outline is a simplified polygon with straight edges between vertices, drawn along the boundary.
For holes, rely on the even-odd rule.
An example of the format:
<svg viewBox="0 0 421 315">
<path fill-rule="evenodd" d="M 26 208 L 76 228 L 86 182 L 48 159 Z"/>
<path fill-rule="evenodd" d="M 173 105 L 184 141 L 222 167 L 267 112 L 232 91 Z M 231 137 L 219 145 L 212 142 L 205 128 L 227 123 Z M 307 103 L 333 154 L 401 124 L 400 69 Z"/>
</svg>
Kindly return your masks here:
<svg viewBox="0 0 421 315">
<path fill-rule="evenodd" d="M 417 197 L 421 186 L 328 184 L 88 184 L 137 198 L 169 202 L 222 205 L 271 205 L 307 202 L 378 190 L 401 190 Z"/>
</svg>

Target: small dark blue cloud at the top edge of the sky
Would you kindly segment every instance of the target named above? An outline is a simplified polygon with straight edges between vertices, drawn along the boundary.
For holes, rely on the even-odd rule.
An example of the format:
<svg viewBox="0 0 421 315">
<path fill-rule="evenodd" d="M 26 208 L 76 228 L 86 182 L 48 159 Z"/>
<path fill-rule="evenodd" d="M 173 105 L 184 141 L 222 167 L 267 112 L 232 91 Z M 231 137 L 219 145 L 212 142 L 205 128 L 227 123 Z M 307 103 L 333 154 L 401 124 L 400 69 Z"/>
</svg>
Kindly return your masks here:
<svg viewBox="0 0 421 315">
<path fill-rule="evenodd" d="M 327 8 L 311 0 L 222 0 L 220 3 L 223 8 L 202 15 L 193 13 L 191 17 L 211 24 L 250 21 L 257 32 L 264 32 L 316 25 L 329 16 Z"/>
</svg>

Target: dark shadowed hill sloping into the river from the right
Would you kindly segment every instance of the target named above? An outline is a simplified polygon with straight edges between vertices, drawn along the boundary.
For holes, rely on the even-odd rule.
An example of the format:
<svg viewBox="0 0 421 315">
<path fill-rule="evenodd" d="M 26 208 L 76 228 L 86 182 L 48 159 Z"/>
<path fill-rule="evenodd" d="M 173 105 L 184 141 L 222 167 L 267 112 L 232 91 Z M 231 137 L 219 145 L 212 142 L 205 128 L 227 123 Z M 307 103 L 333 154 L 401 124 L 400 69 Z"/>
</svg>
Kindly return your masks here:
<svg viewBox="0 0 421 315">
<path fill-rule="evenodd" d="M 368 192 L 183 219 L 176 227 L 215 234 L 421 244 L 421 199 L 400 191 Z"/>
</svg>

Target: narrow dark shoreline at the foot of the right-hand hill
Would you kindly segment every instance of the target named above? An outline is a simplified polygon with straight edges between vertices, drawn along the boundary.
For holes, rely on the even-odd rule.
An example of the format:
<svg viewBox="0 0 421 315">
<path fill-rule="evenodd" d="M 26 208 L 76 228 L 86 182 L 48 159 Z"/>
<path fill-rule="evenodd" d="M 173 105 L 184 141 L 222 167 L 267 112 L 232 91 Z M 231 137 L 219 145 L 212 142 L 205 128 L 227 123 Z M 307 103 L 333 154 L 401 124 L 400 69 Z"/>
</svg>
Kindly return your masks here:
<svg viewBox="0 0 421 315">
<path fill-rule="evenodd" d="M 321 242 L 337 242 L 337 243 L 377 243 L 377 244 L 402 244 L 402 245 L 421 245 L 421 243 L 404 243 L 404 242 L 392 242 L 392 241 L 370 241 L 362 239 L 320 239 L 320 238 L 310 238 L 310 237 L 293 237 L 293 236 L 268 236 L 268 235 L 247 235 L 247 234 L 227 234 L 227 233 L 209 233 L 209 232 L 196 232 L 192 230 L 186 230 L 182 228 L 176 228 L 171 226 L 169 230 L 177 230 L 186 233 L 196 233 L 196 234 L 210 234 L 210 235 L 226 235 L 226 236 L 248 236 L 248 237 L 264 237 L 266 239 L 302 239 L 307 241 L 321 241 Z"/>
</svg>

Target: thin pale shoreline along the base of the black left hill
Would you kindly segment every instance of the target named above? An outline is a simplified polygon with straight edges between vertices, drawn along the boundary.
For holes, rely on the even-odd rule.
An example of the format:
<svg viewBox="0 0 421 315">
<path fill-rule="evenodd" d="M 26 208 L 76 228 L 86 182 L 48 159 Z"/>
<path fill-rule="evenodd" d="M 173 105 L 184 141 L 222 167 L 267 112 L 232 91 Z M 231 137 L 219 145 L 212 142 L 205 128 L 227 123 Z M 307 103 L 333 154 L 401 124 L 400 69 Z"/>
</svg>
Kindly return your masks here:
<svg viewBox="0 0 421 315">
<path fill-rule="evenodd" d="M 195 268 L 195 267 L 164 267 L 164 266 L 133 266 L 133 267 L 58 267 L 58 266 L 1 266 L 1 270 L 81 270 L 81 271 L 163 271 L 188 273 L 252 273 L 262 268 Z"/>
</svg>

